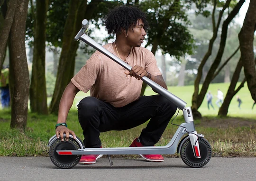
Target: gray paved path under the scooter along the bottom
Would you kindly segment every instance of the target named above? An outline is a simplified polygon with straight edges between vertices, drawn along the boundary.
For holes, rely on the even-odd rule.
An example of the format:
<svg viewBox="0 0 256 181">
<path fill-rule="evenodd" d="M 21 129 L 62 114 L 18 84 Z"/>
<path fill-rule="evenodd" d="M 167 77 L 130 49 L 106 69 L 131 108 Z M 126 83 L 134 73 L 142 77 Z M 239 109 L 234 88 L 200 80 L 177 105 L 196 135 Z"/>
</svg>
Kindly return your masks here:
<svg viewBox="0 0 256 181">
<path fill-rule="evenodd" d="M 59 169 L 49 157 L 0 157 L 0 181 L 256 181 L 256 158 L 211 158 L 190 168 L 181 158 L 149 163 L 142 158 L 107 157 L 94 165 Z"/>
</svg>

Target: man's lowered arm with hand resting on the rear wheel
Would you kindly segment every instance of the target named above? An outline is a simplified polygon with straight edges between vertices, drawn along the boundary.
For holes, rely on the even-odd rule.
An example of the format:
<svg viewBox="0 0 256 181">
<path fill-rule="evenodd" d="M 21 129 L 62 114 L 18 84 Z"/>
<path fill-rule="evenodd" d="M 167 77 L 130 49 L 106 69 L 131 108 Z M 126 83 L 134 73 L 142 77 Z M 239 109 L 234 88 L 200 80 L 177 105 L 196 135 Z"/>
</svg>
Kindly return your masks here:
<svg viewBox="0 0 256 181">
<path fill-rule="evenodd" d="M 60 100 L 57 124 L 66 122 L 68 112 L 73 104 L 77 92 L 79 92 L 79 89 L 75 87 L 72 82 L 69 82 Z M 63 134 L 66 134 L 66 140 L 69 139 L 69 134 L 73 135 L 73 138 L 76 139 L 75 133 L 73 131 L 65 126 L 58 126 L 56 128 L 56 136 L 57 138 L 60 136 L 61 141 L 64 141 Z"/>
</svg>

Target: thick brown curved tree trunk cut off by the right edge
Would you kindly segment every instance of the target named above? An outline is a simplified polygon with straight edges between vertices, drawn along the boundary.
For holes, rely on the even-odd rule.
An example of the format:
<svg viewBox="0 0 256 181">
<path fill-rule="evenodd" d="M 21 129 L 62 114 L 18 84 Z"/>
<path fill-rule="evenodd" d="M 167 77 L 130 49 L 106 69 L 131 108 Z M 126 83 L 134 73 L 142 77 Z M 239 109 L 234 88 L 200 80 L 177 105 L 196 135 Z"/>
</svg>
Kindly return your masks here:
<svg viewBox="0 0 256 181">
<path fill-rule="evenodd" d="M 254 59 L 253 41 L 256 29 L 256 0 L 251 0 L 243 27 L 238 35 L 241 58 L 252 99 L 256 101 L 256 64 Z"/>
</svg>

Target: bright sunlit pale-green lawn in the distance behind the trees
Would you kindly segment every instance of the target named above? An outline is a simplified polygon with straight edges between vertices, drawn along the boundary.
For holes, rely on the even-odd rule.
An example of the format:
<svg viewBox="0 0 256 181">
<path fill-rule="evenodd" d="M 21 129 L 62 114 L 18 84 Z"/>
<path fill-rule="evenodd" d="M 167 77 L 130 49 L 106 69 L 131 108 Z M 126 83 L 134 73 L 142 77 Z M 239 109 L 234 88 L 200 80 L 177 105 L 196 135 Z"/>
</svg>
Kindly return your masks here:
<svg viewBox="0 0 256 181">
<path fill-rule="evenodd" d="M 238 84 L 239 85 L 239 84 Z M 214 83 L 210 84 L 209 89 L 213 95 L 212 105 L 215 108 L 215 110 L 208 110 L 207 108 L 207 100 L 206 98 L 203 100 L 201 107 L 198 109 L 199 112 L 201 112 L 202 116 L 217 116 L 219 108 L 215 104 L 217 101 L 217 90 L 220 89 L 224 96 L 226 95 L 228 89 L 229 89 L 229 83 Z M 168 90 L 174 94 L 175 96 L 179 97 L 180 99 L 184 100 L 187 103 L 187 106 L 192 105 L 192 94 L 194 92 L 194 86 L 183 86 L 183 87 L 177 87 L 177 86 L 169 86 Z M 154 95 L 156 94 L 151 87 L 147 86 L 145 95 Z M 239 96 L 242 100 L 241 109 L 238 108 L 238 101 L 236 99 L 236 96 Z M 229 105 L 229 112 L 227 116 L 231 117 L 242 117 L 242 115 L 246 115 L 247 118 L 256 118 L 256 106 L 254 108 L 254 111 L 252 110 L 253 100 L 251 98 L 250 91 L 248 90 L 247 84 L 245 83 L 245 86 L 238 92 L 238 94 L 234 96 L 234 98 L 231 100 L 231 103 Z M 90 93 L 87 92 L 86 94 L 82 91 L 78 92 L 78 94 L 75 97 L 74 104 L 72 106 L 72 109 L 76 109 L 76 105 L 79 103 L 82 98 L 90 96 Z"/>
</svg>

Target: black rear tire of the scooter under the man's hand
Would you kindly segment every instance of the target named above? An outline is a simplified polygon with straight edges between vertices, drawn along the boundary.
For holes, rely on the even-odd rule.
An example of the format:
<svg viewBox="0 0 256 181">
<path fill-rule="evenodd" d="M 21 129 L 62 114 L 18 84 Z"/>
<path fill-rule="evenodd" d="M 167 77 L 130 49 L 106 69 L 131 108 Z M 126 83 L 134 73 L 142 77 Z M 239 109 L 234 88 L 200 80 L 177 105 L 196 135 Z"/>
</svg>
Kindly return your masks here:
<svg viewBox="0 0 256 181">
<path fill-rule="evenodd" d="M 81 149 L 80 145 L 73 138 L 69 141 L 62 142 L 56 139 L 50 146 L 49 156 L 51 161 L 59 168 L 69 169 L 79 163 L 82 155 L 59 155 L 56 150 L 77 150 Z"/>
</svg>

